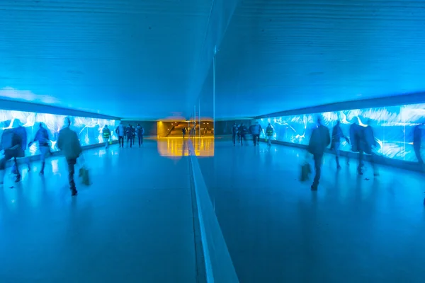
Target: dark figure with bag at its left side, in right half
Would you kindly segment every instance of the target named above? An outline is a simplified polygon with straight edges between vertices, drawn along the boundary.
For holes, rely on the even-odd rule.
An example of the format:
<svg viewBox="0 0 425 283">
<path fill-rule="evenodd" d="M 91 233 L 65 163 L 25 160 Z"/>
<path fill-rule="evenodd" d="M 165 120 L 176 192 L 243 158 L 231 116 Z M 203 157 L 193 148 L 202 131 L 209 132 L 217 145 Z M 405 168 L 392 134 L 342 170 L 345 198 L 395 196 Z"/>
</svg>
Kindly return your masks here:
<svg viewBox="0 0 425 283">
<path fill-rule="evenodd" d="M 331 137 L 329 136 L 329 129 L 322 125 L 320 118 L 317 119 L 317 128 L 313 129 L 312 136 L 310 137 L 310 143 L 308 144 L 308 151 L 313 155 L 314 158 L 314 169 L 316 175 L 312 184 L 312 190 L 317 190 L 319 186 L 320 173 L 322 171 L 322 158 L 324 150 L 331 143 Z"/>
</svg>

